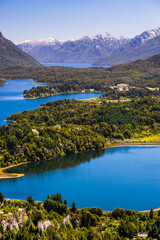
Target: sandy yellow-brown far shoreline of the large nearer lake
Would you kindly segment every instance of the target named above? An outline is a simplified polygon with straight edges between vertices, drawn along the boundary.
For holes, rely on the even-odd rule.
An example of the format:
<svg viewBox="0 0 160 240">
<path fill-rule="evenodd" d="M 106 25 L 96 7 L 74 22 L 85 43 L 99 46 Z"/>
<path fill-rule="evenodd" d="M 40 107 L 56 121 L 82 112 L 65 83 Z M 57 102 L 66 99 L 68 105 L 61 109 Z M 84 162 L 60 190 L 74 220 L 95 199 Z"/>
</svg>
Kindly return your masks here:
<svg viewBox="0 0 160 240">
<path fill-rule="evenodd" d="M 160 143 L 122 143 L 122 144 L 112 144 L 109 145 L 108 147 L 105 147 L 104 149 L 109 149 L 109 148 L 118 148 L 118 147 L 160 147 Z M 102 150 L 102 149 L 101 149 Z M 82 152 L 80 152 L 82 153 Z M 66 154 L 67 155 L 67 154 Z M 50 161 L 50 159 L 46 160 L 46 161 Z M 23 162 L 23 163 L 19 163 L 19 164 L 14 164 L 12 166 L 8 166 L 8 167 L 4 167 L 4 168 L 0 168 L 0 180 L 2 179 L 13 179 L 13 178 L 20 178 L 20 177 L 24 177 L 25 174 L 21 174 L 21 173 L 6 173 L 5 170 L 10 169 L 10 168 L 14 168 L 23 164 L 28 164 L 30 162 Z"/>
</svg>

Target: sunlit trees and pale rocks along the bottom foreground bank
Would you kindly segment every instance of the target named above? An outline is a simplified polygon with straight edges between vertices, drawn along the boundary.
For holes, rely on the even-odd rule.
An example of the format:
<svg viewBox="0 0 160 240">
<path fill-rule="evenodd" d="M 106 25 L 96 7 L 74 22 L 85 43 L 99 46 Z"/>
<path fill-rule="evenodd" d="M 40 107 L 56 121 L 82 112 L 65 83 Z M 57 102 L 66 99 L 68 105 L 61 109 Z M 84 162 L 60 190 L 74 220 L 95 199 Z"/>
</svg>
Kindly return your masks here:
<svg viewBox="0 0 160 240">
<path fill-rule="evenodd" d="M 68 207 L 60 193 L 44 203 L 6 200 L 0 193 L 0 239 L 2 240 L 119 240 L 160 239 L 160 211 L 138 212 Z"/>
</svg>

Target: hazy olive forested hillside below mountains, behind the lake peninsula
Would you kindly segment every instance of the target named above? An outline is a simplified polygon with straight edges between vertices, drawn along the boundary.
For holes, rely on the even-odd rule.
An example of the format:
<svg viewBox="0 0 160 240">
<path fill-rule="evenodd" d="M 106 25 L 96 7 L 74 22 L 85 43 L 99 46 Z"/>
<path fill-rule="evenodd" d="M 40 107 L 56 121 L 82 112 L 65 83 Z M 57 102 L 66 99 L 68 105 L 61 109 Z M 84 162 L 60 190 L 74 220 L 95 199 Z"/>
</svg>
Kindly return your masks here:
<svg viewBox="0 0 160 240">
<path fill-rule="evenodd" d="M 102 89 L 117 83 L 160 86 L 160 55 L 111 68 L 13 67 L 0 70 L 0 79 L 34 79 L 43 83 L 78 84 Z"/>
</svg>

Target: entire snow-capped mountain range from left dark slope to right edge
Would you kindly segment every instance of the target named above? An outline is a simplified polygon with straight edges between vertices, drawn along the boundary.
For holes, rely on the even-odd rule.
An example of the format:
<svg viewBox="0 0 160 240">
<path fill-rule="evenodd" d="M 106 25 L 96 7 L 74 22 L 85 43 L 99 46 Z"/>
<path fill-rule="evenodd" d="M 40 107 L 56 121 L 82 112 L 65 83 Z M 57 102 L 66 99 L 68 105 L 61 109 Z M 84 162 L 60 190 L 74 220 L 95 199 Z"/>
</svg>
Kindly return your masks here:
<svg viewBox="0 0 160 240">
<path fill-rule="evenodd" d="M 93 63 L 116 65 L 160 54 L 160 26 L 133 39 L 112 37 L 109 33 L 78 40 L 60 41 L 54 38 L 16 43 L 40 62 Z"/>
</svg>

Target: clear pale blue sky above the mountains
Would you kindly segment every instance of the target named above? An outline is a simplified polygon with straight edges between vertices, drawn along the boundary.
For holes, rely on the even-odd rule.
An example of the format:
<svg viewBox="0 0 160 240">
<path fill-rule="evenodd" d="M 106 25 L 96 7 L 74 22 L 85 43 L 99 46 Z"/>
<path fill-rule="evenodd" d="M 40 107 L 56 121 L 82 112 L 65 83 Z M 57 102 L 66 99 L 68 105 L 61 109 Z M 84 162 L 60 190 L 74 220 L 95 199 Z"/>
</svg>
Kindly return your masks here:
<svg viewBox="0 0 160 240">
<path fill-rule="evenodd" d="M 0 31 L 14 42 L 134 37 L 160 25 L 160 0 L 0 0 Z"/>
</svg>

